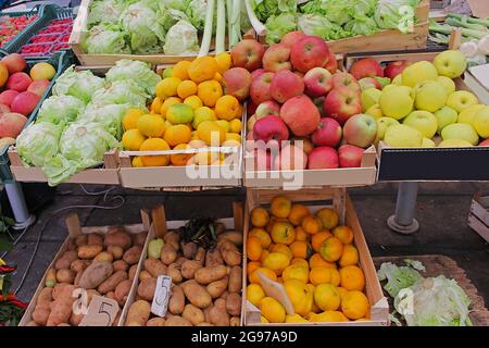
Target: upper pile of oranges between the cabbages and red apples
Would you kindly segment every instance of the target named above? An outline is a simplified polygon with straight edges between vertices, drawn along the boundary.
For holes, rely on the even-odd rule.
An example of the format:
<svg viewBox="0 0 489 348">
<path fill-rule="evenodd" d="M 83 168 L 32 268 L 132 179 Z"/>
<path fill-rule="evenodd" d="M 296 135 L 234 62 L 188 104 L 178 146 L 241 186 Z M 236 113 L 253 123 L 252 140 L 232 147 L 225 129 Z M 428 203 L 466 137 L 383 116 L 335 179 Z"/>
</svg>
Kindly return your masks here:
<svg viewBox="0 0 489 348">
<path fill-rule="evenodd" d="M 186 150 L 235 147 L 241 144 L 242 105 L 225 95 L 222 74 L 230 69 L 230 55 L 180 61 L 163 71 L 150 113 L 130 109 L 124 120 L 122 144 L 129 151 Z M 133 166 L 221 165 L 218 152 L 141 156 Z"/>
</svg>

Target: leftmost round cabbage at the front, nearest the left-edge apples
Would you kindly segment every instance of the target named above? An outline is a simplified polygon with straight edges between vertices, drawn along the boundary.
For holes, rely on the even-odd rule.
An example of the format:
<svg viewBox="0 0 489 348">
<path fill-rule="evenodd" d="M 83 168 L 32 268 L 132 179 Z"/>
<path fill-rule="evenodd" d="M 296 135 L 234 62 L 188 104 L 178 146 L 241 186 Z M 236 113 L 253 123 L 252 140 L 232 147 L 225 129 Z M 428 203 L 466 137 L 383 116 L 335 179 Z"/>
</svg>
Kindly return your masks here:
<svg viewBox="0 0 489 348">
<path fill-rule="evenodd" d="M 17 137 L 16 148 L 24 163 L 42 166 L 46 161 L 58 153 L 63 125 L 49 122 L 36 122 L 22 130 Z"/>
</svg>

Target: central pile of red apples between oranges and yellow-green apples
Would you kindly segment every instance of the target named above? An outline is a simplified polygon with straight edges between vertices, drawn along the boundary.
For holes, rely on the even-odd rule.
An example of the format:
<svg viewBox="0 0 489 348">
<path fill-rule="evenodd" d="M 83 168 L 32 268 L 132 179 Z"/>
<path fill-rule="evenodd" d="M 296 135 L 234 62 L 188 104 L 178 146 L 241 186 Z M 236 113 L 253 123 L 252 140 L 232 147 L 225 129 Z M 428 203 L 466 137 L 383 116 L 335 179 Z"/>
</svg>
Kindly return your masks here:
<svg viewBox="0 0 489 348">
<path fill-rule="evenodd" d="M 361 114 L 361 87 L 337 71 L 335 54 L 317 36 L 292 32 L 266 50 L 243 40 L 234 66 L 251 72 L 247 150 L 259 170 L 318 170 L 361 165 L 377 123 Z M 238 69 L 239 69 L 238 67 Z M 235 67 L 237 69 L 237 67 Z"/>
</svg>

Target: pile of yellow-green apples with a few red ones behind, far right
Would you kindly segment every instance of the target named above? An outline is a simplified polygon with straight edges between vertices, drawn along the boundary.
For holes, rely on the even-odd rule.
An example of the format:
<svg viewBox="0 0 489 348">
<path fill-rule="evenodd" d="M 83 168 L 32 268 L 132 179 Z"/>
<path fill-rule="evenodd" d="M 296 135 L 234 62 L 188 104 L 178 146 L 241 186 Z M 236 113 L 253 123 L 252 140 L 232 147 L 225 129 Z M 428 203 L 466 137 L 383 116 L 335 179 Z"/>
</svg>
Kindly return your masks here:
<svg viewBox="0 0 489 348">
<path fill-rule="evenodd" d="M 391 78 L 384 87 L 362 91 L 362 110 L 376 117 L 376 142 L 399 148 L 489 146 L 489 105 L 467 90 L 455 90 L 454 78 L 466 69 L 460 51 L 448 50 L 432 62 L 397 61 L 384 70 L 372 59 L 356 61 L 356 78 Z"/>
</svg>

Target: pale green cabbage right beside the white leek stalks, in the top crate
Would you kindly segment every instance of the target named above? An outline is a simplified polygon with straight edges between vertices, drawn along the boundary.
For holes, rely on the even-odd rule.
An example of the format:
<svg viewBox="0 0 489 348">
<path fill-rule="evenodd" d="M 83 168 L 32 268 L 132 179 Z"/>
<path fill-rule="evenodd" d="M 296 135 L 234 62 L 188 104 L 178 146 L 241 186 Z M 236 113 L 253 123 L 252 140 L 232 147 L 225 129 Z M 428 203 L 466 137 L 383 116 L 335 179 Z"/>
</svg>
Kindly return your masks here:
<svg viewBox="0 0 489 348">
<path fill-rule="evenodd" d="M 168 55 L 192 54 L 199 52 L 197 29 L 187 21 L 178 21 L 166 34 L 164 52 Z"/>
</svg>

